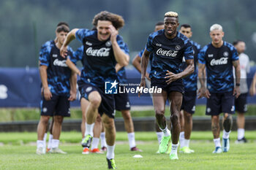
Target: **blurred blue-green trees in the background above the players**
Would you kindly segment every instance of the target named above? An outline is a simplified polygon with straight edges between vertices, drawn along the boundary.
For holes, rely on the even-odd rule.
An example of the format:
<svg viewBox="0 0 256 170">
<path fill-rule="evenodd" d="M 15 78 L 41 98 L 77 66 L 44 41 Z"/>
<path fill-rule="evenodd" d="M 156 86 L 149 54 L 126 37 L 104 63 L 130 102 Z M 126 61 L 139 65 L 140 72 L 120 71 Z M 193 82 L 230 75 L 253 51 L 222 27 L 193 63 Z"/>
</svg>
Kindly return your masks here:
<svg viewBox="0 0 256 170">
<path fill-rule="evenodd" d="M 120 34 L 124 36 L 131 52 L 145 47 L 148 34 L 154 25 L 163 20 L 165 12 L 179 14 L 179 22 L 192 26 L 192 39 L 200 45 L 210 42 L 209 27 L 220 23 L 224 27 L 227 42 L 244 39 L 246 53 L 255 60 L 256 1 L 250 0 L 95 0 L 95 1 L 0 1 L 0 66 L 37 66 L 39 47 L 54 39 L 59 21 L 67 21 L 70 28 L 92 28 L 91 21 L 98 12 L 108 10 L 124 17 L 126 25 Z M 76 50 L 80 42 L 71 46 Z M 134 56 L 131 56 L 131 59 Z"/>
</svg>

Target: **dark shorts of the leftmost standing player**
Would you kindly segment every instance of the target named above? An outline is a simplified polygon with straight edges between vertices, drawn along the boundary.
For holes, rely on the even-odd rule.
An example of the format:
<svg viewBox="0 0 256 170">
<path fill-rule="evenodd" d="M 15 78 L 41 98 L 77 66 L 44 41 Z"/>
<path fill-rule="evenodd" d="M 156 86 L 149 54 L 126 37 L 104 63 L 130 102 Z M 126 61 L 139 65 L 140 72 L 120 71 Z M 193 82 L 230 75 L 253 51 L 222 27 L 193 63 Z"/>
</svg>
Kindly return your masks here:
<svg viewBox="0 0 256 170">
<path fill-rule="evenodd" d="M 58 96 L 53 94 L 49 101 L 44 97 L 41 100 L 41 115 L 42 116 L 63 116 L 70 117 L 70 103 L 67 96 Z"/>
</svg>

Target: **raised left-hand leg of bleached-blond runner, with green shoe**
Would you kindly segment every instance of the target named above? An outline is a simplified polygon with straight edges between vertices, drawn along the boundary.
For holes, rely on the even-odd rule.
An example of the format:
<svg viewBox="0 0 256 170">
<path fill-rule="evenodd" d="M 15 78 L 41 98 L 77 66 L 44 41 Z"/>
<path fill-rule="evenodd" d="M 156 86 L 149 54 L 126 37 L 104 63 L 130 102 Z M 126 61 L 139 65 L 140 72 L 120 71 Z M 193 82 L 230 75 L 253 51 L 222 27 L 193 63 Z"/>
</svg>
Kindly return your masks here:
<svg viewBox="0 0 256 170">
<path fill-rule="evenodd" d="M 165 119 L 165 102 L 167 100 L 167 92 L 162 90 L 162 93 L 153 94 L 153 104 L 154 112 L 157 119 L 157 124 L 163 132 L 164 136 L 162 137 L 161 143 L 159 144 L 159 152 L 164 153 L 167 150 L 168 143 L 170 140 L 170 131 L 167 128 L 167 123 Z"/>
</svg>

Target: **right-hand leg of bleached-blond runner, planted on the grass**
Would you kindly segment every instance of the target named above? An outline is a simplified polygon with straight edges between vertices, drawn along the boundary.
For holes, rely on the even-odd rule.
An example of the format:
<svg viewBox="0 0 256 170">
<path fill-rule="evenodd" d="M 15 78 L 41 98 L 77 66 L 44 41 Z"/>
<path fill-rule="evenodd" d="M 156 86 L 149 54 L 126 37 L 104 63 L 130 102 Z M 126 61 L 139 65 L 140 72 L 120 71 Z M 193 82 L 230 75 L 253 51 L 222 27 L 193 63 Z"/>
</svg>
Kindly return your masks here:
<svg viewBox="0 0 256 170">
<path fill-rule="evenodd" d="M 181 103 L 183 95 L 178 91 L 170 92 L 168 95 L 170 101 L 170 122 L 172 127 L 172 149 L 170 151 L 170 159 L 178 159 L 178 138 L 181 131 L 179 122 L 179 112 L 181 110 Z"/>
</svg>

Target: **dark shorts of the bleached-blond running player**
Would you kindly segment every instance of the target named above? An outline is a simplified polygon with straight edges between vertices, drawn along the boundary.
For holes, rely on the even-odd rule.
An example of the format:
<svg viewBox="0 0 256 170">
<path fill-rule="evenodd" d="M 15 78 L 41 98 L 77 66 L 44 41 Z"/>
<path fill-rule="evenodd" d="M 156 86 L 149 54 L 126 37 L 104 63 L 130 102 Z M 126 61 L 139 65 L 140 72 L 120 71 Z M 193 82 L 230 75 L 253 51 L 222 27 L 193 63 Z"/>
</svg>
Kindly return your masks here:
<svg viewBox="0 0 256 170">
<path fill-rule="evenodd" d="M 167 85 L 167 79 L 157 79 L 155 77 L 151 78 L 151 88 L 153 86 L 157 86 L 157 88 L 162 88 L 168 94 L 173 91 L 178 91 L 180 93 L 184 93 L 184 84 L 182 79 L 176 80 L 175 82 L 171 82 L 170 85 Z"/>
</svg>

